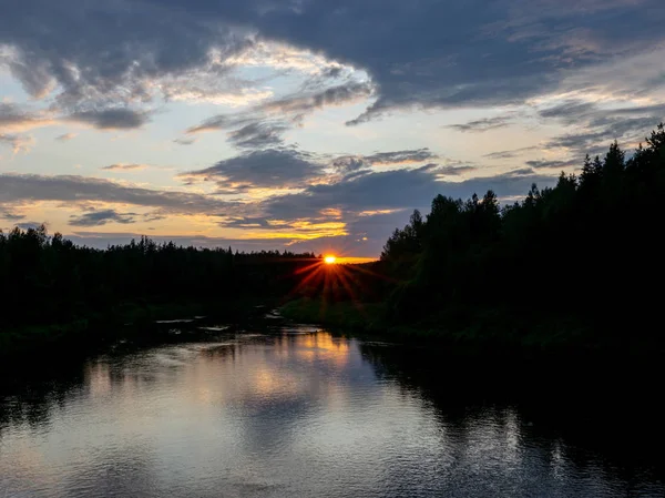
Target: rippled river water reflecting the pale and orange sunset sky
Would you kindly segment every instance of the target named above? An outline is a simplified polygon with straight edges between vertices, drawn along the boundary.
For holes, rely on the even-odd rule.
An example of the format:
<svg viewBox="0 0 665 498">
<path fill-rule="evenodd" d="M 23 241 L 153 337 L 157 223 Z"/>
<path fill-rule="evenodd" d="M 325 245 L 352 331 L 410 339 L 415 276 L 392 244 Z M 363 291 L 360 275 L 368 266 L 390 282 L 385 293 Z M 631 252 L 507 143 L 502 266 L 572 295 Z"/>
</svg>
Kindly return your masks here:
<svg viewBox="0 0 665 498">
<path fill-rule="evenodd" d="M 102 356 L 0 392 L 0 498 L 665 496 L 618 427 L 436 358 L 298 328 Z"/>
</svg>

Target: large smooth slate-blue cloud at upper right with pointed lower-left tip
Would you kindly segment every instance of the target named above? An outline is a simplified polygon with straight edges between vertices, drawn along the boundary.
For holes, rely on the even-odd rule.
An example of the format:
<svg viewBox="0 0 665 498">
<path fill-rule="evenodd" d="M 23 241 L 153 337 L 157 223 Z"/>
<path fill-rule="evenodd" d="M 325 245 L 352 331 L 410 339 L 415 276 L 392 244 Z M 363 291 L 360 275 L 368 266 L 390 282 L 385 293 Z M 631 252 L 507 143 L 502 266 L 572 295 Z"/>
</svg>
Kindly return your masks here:
<svg viewBox="0 0 665 498">
<path fill-rule="evenodd" d="M 358 123 L 395 108 L 510 104 L 553 90 L 569 68 L 625 58 L 663 40 L 646 14 L 656 0 L 637 3 L 512 0 L 488 9 L 481 1 L 410 8 L 389 0 L 371 9 L 321 0 L 297 13 L 275 9 L 259 28 L 367 69 L 380 94 L 352 120 Z M 621 30 L 610 20 L 620 19 L 644 31 L 616 35 Z M 317 29 L 307 30 L 309 24 Z M 416 30 L 427 35 L 415 40 L 409 33 Z"/>
</svg>

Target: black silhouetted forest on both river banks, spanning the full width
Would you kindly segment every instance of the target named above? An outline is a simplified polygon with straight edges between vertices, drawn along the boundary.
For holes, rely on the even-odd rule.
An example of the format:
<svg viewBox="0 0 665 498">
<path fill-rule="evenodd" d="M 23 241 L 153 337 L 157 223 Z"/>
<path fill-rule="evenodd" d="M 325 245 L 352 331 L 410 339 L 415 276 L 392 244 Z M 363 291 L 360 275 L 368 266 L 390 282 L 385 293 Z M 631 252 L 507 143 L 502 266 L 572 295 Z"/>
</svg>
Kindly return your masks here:
<svg viewBox="0 0 665 498">
<path fill-rule="evenodd" d="M 357 266 L 147 237 L 102 251 L 43 226 L 14 228 L 0 233 L 0 339 L 25 326 L 124 319 L 136 307 L 290 301 L 286 316 L 374 333 L 661 347 L 665 128 L 631 154 L 614 142 L 581 166 L 513 204 L 492 191 L 438 195 L 395 230 L 378 262 Z"/>
</svg>

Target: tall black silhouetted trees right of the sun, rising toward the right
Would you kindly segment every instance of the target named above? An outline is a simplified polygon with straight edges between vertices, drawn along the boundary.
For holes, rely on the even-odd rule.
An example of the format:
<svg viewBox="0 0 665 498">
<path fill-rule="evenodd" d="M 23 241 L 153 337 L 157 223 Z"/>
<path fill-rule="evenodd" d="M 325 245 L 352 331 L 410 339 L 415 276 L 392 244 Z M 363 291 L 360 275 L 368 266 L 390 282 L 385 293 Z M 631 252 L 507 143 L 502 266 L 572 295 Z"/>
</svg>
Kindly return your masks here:
<svg viewBox="0 0 665 498">
<path fill-rule="evenodd" d="M 659 124 L 630 156 L 614 142 L 604 156 L 587 155 L 579 175 L 533 184 L 521 202 L 501 206 L 492 191 L 438 195 L 383 247 L 378 268 L 399 282 L 386 293 L 388 317 L 468 326 L 500 309 L 565 316 L 616 341 L 659 341 L 664 193 Z"/>
</svg>

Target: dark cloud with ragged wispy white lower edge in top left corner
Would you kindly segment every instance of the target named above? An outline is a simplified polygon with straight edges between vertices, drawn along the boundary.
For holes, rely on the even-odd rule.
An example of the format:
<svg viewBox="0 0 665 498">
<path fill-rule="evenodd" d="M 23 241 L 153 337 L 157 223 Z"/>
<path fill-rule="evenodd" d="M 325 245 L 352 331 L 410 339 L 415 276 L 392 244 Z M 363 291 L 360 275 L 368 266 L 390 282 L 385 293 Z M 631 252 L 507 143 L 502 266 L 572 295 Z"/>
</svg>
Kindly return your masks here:
<svg viewBox="0 0 665 498">
<path fill-rule="evenodd" d="M 55 103 L 64 109 L 150 99 L 154 79 L 187 73 L 194 80 L 204 68 L 223 72 L 209 68 L 211 51 L 225 60 L 248 43 L 225 24 L 223 11 L 205 2 L 195 8 L 150 0 L 11 3 L 0 18 L 0 44 L 13 49 L 7 65 L 33 96 L 57 87 Z"/>
</svg>

